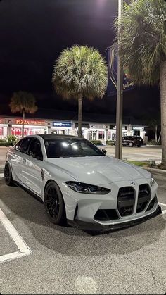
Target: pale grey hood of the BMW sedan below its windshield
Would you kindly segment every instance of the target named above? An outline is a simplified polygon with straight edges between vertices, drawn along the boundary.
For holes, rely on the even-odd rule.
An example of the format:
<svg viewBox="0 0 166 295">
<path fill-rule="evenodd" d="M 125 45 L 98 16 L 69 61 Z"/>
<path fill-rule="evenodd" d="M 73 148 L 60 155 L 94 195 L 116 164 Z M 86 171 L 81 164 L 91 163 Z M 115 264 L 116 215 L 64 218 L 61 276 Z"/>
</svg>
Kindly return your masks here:
<svg viewBox="0 0 166 295">
<path fill-rule="evenodd" d="M 48 158 L 46 161 L 52 168 L 67 173 L 79 182 L 90 184 L 108 184 L 151 177 L 151 173 L 146 170 L 109 156 Z"/>
</svg>

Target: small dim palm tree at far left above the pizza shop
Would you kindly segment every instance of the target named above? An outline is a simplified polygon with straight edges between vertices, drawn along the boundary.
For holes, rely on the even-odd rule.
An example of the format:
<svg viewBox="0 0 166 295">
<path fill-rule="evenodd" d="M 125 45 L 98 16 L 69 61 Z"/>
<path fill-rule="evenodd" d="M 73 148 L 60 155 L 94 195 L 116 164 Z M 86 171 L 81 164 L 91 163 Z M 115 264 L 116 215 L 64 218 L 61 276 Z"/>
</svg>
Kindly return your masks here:
<svg viewBox="0 0 166 295">
<path fill-rule="evenodd" d="M 9 104 L 12 113 L 22 113 L 22 137 L 24 137 L 24 121 L 25 113 L 35 113 L 37 106 L 35 105 L 35 98 L 31 93 L 28 92 L 14 92 Z"/>
</svg>

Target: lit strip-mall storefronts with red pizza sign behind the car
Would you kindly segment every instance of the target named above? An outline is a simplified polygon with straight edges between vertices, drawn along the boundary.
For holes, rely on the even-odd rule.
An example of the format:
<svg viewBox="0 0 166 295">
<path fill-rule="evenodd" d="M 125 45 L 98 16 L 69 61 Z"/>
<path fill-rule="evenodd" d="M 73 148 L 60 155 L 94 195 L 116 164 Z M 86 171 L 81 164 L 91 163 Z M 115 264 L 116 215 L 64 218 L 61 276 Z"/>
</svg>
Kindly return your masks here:
<svg viewBox="0 0 166 295">
<path fill-rule="evenodd" d="M 22 132 L 21 118 L 0 118 L 0 139 L 6 139 L 9 135 L 21 137 Z M 27 118 L 24 121 L 25 130 L 24 135 L 33 134 L 66 134 L 77 135 L 78 123 L 75 120 L 45 120 L 37 118 Z M 82 123 L 82 134 L 84 138 L 89 140 L 100 140 L 106 144 L 107 140 L 116 139 L 115 123 L 97 123 L 84 122 Z M 122 136 L 125 135 L 139 135 L 146 142 L 145 126 L 125 124 L 122 127 Z"/>
</svg>

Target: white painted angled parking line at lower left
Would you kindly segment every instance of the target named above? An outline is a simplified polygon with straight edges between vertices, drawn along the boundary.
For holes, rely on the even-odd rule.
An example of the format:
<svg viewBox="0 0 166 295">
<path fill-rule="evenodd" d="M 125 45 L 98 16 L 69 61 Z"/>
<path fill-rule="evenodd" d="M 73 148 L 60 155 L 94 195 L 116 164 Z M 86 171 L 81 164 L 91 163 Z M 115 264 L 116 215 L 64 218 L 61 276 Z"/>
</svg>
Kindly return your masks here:
<svg viewBox="0 0 166 295">
<path fill-rule="evenodd" d="M 0 262 L 11 261 L 15 258 L 20 258 L 23 256 L 30 255 L 30 253 L 32 253 L 32 251 L 27 246 L 27 244 L 25 243 L 23 238 L 20 236 L 18 231 L 15 230 L 15 227 L 13 227 L 11 221 L 9 221 L 8 218 L 6 218 L 6 215 L 4 214 L 4 212 L 1 209 L 0 209 L 0 221 L 1 221 L 1 224 L 4 225 L 8 234 L 10 234 L 10 236 L 13 239 L 13 241 L 15 242 L 15 244 L 18 246 L 18 249 L 20 250 L 20 251 L 16 251 L 13 253 L 9 253 L 9 254 L 0 256 Z"/>
</svg>

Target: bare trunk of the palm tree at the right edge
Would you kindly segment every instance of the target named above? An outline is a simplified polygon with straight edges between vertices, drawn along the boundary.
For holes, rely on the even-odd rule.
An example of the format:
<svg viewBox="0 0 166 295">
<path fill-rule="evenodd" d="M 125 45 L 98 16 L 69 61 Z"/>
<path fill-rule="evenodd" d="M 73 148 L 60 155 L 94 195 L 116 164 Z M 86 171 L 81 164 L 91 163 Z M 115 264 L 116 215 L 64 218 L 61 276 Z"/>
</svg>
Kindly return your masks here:
<svg viewBox="0 0 166 295">
<path fill-rule="evenodd" d="M 162 167 L 166 169 L 166 61 L 160 67 Z"/>
</svg>

